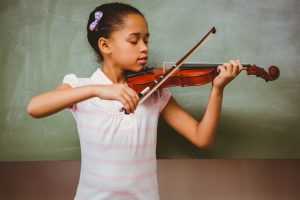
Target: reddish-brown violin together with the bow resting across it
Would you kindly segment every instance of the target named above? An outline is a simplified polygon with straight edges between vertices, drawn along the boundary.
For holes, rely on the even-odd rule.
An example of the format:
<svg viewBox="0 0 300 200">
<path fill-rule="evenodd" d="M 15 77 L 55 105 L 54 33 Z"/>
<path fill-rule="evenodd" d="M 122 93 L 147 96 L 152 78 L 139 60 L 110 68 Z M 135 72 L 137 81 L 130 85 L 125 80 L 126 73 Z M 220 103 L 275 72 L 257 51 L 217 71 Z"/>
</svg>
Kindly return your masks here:
<svg viewBox="0 0 300 200">
<path fill-rule="evenodd" d="M 126 73 L 127 84 L 134 89 L 139 97 L 139 104 L 143 103 L 158 88 L 172 86 L 200 86 L 212 82 L 218 75 L 217 67 L 220 64 L 184 64 L 184 61 L 203 44 L 209 36 L 216 33 L 216 28 L 212 27 L 201 40 L 193 46 L 174 66 L 169 70 L 163 68 L 145 68 L 137 73 Z M 263 68 L 251 64 L 242 64 L 248 75 L 256 75 L 265 81 L 276 80 L 280 71 L 278 67 L 272 65 L 268 72 Z M 123 107 L 121 112 L 128 114 Z"/>
</svg>

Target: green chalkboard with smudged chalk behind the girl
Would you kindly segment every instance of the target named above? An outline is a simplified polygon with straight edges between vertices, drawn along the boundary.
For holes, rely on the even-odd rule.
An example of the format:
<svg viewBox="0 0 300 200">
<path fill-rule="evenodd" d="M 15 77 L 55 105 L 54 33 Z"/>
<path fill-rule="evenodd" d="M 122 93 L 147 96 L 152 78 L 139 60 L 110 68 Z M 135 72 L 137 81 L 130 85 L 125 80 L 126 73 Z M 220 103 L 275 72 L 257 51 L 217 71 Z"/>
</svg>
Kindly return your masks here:
<svg viewBox="0 0 300 200">
<path fill-rule="evenodd" d="M 32 119 L 32 96 L 52 90 L 67 73 L 89 76 L 99 65 L 86 39 L 89 12 L 108 1 L 0 2 L 0 160 L 80 159 L 71 114 Z M 175 62 L 212 26 L 217 34 L 189 62 L 239 58 L 275 64 L 271 83 L 241 74 L 224 93 L 216 143 L 199 150 L 159 121 L 160 158 L 300 158 L 300 3 L 297 0 L 123 1 L 148 19 L 149 66 Z M 174 98 L 201 119 L 210 85 L 172 88 Z"/>
</svg>

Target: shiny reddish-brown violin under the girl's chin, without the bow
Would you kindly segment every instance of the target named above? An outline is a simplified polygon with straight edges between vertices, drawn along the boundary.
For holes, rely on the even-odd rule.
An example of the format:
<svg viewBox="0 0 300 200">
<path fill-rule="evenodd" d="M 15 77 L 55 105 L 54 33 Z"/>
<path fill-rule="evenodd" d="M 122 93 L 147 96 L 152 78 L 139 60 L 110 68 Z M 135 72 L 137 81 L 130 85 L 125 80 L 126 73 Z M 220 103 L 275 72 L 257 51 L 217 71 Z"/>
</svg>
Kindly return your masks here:
<svg viewBox="0 0 300 200">
<path fill-rule="evenodd" d="M 210 83 L 218 75 L 217 67 L 219 65 L 221 64 L 183 64 L 179 70 L 161 84 L 160 88 L 201 86 Z M 266 82 L 276 80 L 280 74 L 279 69 L 274 65 L 269 67 L 268 72 L 255 64 L 242 64 L 242 66 L 246 67 L 247 75 L 256 75 Z M 128 73 L 126 75 L 127 84 L 138 94 L 141 94 L 145 88 L 154 87 L 166 75 L 165 71 L 164 68 L 148 67 L 137 73 Z"/>
</svg>

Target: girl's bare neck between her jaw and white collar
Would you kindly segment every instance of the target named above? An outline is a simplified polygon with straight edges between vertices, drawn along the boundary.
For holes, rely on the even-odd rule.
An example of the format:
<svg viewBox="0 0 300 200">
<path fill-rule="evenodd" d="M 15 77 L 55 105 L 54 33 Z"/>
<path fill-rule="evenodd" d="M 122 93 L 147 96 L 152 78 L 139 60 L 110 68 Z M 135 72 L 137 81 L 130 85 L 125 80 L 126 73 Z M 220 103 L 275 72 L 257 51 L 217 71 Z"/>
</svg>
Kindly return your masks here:
<svg viewBox="0 0 300 200">
<path fill-rule="evenodd" d="M 126 82 L 123 69 L 112 63 L 104 62 L 102 71 L 114 84 Z"/>
</svg>

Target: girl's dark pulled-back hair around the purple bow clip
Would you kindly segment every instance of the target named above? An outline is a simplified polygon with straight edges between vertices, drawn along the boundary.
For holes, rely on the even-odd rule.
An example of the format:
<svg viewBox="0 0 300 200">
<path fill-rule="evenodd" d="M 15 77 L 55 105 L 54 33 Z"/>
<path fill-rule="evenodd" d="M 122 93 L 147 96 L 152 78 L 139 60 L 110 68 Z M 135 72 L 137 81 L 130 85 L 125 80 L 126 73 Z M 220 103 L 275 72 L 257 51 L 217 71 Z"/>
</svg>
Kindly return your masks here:
<svg viewBox="0 0 300 200">
<path fill-rule="evenodd" d="M 97 23 L 95 30 L 91 31 L 89 26 L 95 21 L 95 12 L 97 11 L 101 11 L 103 16 Z M 128 4 L 117 2 L 102 4 L 90 13 L 87 23 L 87 39 L 96 54 L 100 57 L 100 62 L 103 61 L 103 56 L 98 48 L 98 39 L 100 37 L 109 38 L 113 31 L 120 29 L 124 24 L 124 17 L 128 14 L 138 14 L 144 17 L 138 9 Z"/>
</svg>

